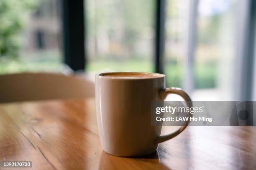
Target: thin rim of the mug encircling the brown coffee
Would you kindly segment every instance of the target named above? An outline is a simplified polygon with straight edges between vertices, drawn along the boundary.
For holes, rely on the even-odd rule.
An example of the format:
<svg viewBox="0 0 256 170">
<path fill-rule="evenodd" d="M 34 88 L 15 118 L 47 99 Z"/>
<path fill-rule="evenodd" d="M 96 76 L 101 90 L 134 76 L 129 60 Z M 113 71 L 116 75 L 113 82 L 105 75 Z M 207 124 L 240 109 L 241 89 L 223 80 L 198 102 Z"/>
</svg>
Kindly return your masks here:
<svg viewBox="0 0 256 170">
<path fill-rule="evenodd" d="M 121 74 L 133 74 L 133 75 L 142 74 L 142 75 L 148 75 L 148 77 L 138 77 L 138 78 L 135 77 L 132 80 L 135 80 L 135 79 L 155 79 L 155 78 L 163 78 L 163 77 L 165 77 L 164 74 L 154 73 L 154 72 L 101 72 L 101 73 L 96 74 L 95 76 L 114 79 L 113 76 L 106 76 L 106 75 L 114 75 L 114 74 L 115 75 L 118 75 L 118 74 L 120 74 L 120 75 Z M 115 77 L 115 79 L 131 80 L 131 78 L 128 78 L 128 77 Z"/>
</svg>

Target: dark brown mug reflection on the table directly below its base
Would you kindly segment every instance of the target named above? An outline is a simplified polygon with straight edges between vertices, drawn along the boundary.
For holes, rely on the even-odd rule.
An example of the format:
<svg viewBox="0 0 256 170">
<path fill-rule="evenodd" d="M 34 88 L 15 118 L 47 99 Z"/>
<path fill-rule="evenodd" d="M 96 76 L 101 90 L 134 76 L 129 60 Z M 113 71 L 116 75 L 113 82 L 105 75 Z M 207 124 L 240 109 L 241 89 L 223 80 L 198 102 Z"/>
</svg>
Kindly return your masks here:
<svg viewBox="0 0 256 170">
<path fill-rule="evenodd" d="M 141 157 L 119 157 L 102 150 L 99 163 L 100 170 L 109 169 L 161 169 L 170 170 L 162 164 L 158 152 Z"/>
</svg>

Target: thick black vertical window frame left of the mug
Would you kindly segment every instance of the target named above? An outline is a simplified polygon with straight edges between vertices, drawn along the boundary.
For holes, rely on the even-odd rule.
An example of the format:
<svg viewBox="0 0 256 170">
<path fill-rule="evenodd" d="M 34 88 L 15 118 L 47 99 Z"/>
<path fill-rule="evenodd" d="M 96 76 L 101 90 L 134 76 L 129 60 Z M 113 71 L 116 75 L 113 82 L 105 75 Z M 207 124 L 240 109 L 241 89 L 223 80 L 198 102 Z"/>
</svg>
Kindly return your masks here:
<svg viewBox="0 0 256 170">
<path fill-rule="evenodd" d="M 84 0 L 61 0 L 64 62 L 74 71 L 86 65 Z"/>
</svg>

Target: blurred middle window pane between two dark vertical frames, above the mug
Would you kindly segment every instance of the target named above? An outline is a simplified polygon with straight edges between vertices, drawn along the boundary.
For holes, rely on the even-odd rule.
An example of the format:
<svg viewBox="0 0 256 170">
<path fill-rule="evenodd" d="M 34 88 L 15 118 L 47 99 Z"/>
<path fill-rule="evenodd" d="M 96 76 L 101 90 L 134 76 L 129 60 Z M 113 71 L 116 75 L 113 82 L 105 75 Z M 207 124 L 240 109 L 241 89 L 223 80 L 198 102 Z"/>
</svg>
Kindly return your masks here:
<svg viewBox="0 0 256 170">
<path fill-rule="evenodd" d="M 154 0 L 87 0 L 87 71 L 154 72 Z"/>
</svg>

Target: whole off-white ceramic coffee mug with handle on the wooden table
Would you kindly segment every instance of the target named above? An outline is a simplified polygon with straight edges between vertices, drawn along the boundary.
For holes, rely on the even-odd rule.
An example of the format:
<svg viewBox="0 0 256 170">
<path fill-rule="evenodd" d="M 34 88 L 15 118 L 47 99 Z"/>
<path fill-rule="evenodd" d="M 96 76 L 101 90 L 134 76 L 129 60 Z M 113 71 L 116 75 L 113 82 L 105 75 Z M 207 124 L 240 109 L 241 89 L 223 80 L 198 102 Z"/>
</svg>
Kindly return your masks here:
<svg viewBox="0 0 256 170">
<path fill-rule="evenodd" d="M 165 75 L 147 72 L 105 72 L 95 75 L 95 101 L 100 141 L 105 152 L 117 156 L 154 153 L 158 143 L 179 135 L 188 125 L 161 136 L 161 126 L 151 126 L 151 101 L 174 93 L 192 107 L 183 90 L 165 87 Z M 191 116 L 190 113 L 188 116 Z"/>
</svg>

